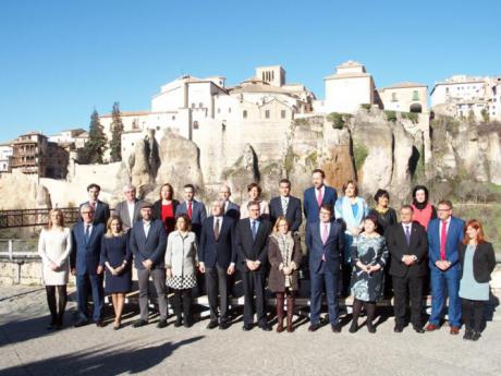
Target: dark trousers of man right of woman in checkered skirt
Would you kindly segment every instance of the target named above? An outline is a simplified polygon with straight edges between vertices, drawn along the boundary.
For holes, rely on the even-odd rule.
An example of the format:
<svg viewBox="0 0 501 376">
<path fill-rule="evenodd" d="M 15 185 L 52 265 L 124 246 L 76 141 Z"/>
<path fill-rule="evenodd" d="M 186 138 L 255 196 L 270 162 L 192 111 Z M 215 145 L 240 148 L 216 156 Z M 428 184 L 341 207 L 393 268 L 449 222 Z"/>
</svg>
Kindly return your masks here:
<svg viewBox="0 0 501 376">
<path fill-rule="evenodd" d="M 218 320 L 218 293 L 219 317 L 221 322 L 228 319 L 228 275 L 227 269 L 216 265 L 205 271 L 207 296 L 209 298 L 210 320 Z"/>
</svg>

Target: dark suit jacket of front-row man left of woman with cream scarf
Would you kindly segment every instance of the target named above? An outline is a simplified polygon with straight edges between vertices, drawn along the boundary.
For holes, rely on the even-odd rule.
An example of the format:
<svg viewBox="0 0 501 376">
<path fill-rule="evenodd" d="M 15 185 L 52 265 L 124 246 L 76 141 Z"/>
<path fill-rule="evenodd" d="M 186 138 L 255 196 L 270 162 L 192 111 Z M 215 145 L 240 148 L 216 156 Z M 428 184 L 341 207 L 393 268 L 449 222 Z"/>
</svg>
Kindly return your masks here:
<svg viewBox="0 0 501 376">
<path fill-rule="evenodd" d="M 244 218 L 239 220 L 235 229 L 236 245 L 236 268 L 242 272 L 249 272 L 246 260 L 259 260 L 260 267 L 257 272 L 266 272 L 266 263 L 268 260 L 268 235 L 271 232 L 271 223 L 268 219 L 261 218 L 259 229 L 257 230 L 256 240 L 253 240 L 250 231 L 250 219 Z"/>
</svg>

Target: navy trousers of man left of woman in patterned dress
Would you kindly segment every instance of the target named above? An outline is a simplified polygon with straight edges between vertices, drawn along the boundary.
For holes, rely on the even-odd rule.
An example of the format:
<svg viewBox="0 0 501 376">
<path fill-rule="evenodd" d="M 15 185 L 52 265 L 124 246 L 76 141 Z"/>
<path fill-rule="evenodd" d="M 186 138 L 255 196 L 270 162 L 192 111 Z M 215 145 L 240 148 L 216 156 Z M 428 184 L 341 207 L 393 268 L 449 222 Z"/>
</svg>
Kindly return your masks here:
<svg viewBox="0 0 501 376">
<path fill-rule="evenodd" d="M 327 307 L 329 312 L 330 324 L 337 325 L 339 320 L 338 304 L 338 274 L 332 274 L 327 268 L 323 272 L 310 271 L 310 314 L 309 320 L 317 325 L 320 322 L 321 294 L 323 284 L 326 287 Z"/>
</svg>

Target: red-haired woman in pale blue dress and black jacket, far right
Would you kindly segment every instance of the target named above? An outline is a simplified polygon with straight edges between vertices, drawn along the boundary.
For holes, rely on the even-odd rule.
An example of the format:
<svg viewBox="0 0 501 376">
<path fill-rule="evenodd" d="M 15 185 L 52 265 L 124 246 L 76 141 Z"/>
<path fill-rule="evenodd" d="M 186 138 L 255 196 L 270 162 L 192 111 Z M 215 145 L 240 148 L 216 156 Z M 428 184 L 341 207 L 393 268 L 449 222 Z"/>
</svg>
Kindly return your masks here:
<svg viewBox="0 0 501 376">
<path fill-rule="evenodd" d="M 465 228 L 466 234 L 460 244 L 460 298 L 465 325 L 463 338 L 478 341 L 484 325 L 484 307 L 489 301 L 489 281 L 496 267 L 496 255 L 478 220 L 469 220 Z"/>
</svg>

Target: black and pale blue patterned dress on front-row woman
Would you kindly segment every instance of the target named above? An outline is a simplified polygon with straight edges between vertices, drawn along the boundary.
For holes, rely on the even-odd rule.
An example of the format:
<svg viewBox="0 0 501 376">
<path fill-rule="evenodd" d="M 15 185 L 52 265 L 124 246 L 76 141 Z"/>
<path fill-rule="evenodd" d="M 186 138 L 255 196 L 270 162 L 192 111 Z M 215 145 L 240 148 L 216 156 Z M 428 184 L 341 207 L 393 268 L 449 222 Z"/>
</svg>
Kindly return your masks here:
<svg viewBox="0 0 501 376">
<path fill-rule="evenodd" d="M 375 302 L 383 292 L 383 268 L 388 259 L 388 246 L 384 236 L 367 236 L 365 233 L 355 236 L 351 246 L 353 275 L 352 294 L 364 302 Z M 381 269 L 370 275 L 356 266 L 357 262 L 365 265 L 380 265 Z"/>
</svg>

